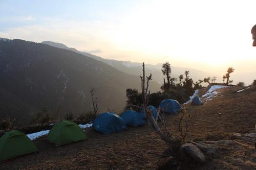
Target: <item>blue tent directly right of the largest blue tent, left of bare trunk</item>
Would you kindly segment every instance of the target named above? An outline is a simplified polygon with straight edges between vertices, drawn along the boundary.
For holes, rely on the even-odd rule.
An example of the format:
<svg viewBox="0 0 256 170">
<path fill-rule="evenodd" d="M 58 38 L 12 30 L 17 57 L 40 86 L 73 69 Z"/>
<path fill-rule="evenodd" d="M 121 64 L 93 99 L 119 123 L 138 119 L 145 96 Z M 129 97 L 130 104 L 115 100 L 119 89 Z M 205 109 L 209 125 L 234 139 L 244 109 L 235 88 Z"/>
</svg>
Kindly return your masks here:
<svg viewBox="0 0 256 170">
<path fill-rule="evenodd" d="M 145 124 L 145 120 L 142 116 L 139 115 L 136 111 L 133 110 L 127 110 L 124 112 L 121 116 L 126 123 L 126 125 L 129 126 L 140 126 Z"/>
</svg>

